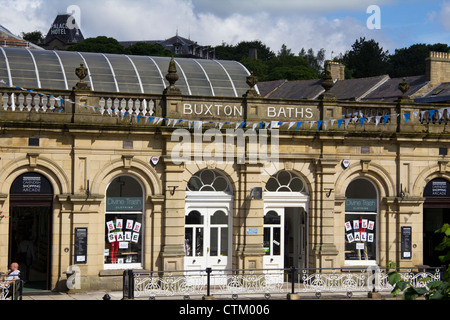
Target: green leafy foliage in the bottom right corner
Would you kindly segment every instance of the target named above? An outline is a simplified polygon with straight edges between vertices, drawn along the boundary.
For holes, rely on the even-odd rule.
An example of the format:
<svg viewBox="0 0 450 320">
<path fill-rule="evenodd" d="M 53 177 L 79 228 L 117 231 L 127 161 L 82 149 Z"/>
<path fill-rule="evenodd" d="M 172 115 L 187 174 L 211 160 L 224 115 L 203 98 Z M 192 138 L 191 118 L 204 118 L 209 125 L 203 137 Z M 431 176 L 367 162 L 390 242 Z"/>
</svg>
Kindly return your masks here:
<svg viewBox="0 0 450 320">
<path fill-rule="evenodd" d="M 442 228 L 436 230 L 436 233 L 443 235 L 442 242 L 437 246 L 437 251 L 442 251 L 444 254 L 439 256 L 439 259 L 447 264 L 443 272 L 441 280 L 429 281 L 426 287 L 413 287 L 408 281 L 401 280 L 400 274 L 396 269 L 389 272 L 388 281 L 394 286 L 391 294 L 397 296 L 403 291 L 402 298 L 404 300 L 415 300 L 419 297 L 424 297 L 426 300 L 449 300 L 450 299 L 450 225 L 444 224 Z M 390 268 L 395 268 L 395 264 L 391 263 Z M 427 281 L 430 279 L 423 279 Z"/>
</svg>

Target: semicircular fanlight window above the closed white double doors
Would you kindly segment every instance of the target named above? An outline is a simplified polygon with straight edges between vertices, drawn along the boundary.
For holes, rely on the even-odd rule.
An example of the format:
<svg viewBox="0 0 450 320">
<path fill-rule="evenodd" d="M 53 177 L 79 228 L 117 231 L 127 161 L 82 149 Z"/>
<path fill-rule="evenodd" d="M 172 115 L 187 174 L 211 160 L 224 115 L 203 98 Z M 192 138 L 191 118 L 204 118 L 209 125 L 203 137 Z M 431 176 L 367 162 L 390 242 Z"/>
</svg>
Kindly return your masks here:
<svg viewBox="0 0 450 320">
<path fill-rule="evenodd" d="M 227 177 L 217 170 L 205 169 L 192 176 L 187 191 L 221 191 L 232 193 Z"/>
</svg>

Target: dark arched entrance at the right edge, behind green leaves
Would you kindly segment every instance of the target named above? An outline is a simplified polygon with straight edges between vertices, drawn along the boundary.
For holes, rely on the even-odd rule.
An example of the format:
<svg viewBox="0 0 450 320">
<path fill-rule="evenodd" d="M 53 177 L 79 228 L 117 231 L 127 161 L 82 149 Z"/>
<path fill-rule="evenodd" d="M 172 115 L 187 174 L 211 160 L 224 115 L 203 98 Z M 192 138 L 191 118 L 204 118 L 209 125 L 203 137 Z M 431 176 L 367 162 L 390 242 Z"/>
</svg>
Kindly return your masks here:
<svg viewBox="0 0 450 320">
<path fill-rule="evenodd" d="M 436 178 L 425 186 L 423 196 L 423 264 L 438 267 L 442 264 L 436 251 L 441 243 L 442 235 L 435 231 L 444 223 L 450 223 L 450 182 L 443 178 Z"/>
</svg>

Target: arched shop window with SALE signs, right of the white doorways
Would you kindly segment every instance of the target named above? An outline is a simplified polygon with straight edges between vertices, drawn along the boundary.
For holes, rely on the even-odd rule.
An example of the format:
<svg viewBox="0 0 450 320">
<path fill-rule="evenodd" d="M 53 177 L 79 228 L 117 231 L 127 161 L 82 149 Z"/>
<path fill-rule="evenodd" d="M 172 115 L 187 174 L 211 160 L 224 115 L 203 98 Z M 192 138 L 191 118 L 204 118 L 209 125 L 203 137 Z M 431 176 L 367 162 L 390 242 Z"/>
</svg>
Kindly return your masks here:
<svg viewBox="0 0 450 320">
<path fill-rule="evenodd" d="M 353 180 L 345 192 L 345 260 L 376 260 L 378 192 L 367 179 Z M 351 263 L 351 262 L 350 262 Z"/>
</svg>

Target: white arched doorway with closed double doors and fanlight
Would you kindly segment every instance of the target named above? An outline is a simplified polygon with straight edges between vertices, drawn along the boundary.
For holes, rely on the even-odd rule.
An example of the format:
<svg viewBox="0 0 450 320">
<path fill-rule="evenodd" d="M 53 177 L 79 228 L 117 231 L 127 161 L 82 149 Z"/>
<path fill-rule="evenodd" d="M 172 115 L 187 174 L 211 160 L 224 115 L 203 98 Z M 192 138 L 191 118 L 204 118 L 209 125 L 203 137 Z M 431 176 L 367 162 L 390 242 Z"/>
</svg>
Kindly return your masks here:
<svg viewBox="0 0 450 320">
<path fill-rule="evenodd" d="M 186 270 L 231 267 L 233 192 L 227 177 L 205 169 L 189 180 L 185 207 Z"/>
</svg>

